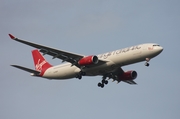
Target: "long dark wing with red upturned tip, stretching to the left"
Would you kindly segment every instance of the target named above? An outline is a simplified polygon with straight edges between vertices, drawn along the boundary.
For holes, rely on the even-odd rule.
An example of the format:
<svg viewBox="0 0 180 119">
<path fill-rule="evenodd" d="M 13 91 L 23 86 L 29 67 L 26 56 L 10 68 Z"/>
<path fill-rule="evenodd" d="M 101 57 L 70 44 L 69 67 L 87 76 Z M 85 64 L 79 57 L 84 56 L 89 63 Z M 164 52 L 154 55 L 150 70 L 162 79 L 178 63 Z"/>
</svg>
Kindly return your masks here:
<svg viewBox="0 0 180 119">
<path fill-rule="evenodd" d="M 48 54 L 53 56 L 54 58 L 59 58 L 61 59 L 63 62 L 67 61 L 70 62 L 72 65 L 76 65 L 77 67 L 81 67 L 78 65 L 78 61 L 80 59 L 82 59 L 83 57 L 85 57 L 84 55 L 80 55 L 80 54 L 75 54 L 75 53 L 71 53 L 71 52 L 67 52 L 67 51 L 63 51 L 63 50 L 59 50 L 59 49 L 55 49 L 55 48 L 51 48 L 51 47 L 47 47 L 44 45 L 40 45 L 40 44 L 36 44 L 33 42 L 29 42 L 29 41 L 25 41 L 25 40 L 21 40 L 19 38 L 14 37 L 13 35 L 9 34 L 10 38 L 18 41 L 20 43 L 32 46 L 34 48 L 39 49 L 40 52 L 43 53 L 43 55 Z M 99 64 L 105 63 L 105 61 L 99 61 Z"/>
</svg>

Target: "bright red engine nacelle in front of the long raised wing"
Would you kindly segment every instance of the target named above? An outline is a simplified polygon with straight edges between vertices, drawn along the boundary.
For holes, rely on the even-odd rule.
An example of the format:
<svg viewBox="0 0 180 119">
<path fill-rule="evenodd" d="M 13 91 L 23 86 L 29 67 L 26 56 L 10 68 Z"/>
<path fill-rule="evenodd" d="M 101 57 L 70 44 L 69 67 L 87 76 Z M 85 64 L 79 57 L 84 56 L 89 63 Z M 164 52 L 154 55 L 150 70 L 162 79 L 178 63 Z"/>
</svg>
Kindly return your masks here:
<svg viewBox="0 0 180 119">
<path fill-rule="evenodd" d="M 97 64 L 98 63 L 98 57 L 96 55 L 91 55 L 87 57 L 83 57 L 78 61 L 78 64 L 81 66 L 91 65 L 91 64 Z"/>
</svg>

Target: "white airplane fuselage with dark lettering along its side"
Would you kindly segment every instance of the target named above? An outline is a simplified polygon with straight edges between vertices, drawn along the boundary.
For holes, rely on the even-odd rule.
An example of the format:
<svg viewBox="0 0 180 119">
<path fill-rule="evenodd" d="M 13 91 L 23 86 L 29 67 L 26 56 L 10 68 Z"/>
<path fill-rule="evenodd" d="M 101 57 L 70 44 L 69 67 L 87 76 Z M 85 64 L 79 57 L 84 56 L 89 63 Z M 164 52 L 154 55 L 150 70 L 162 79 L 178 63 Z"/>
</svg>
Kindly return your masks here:
<svg viewBox="0 0 180 119">
<path fill-rule="evenodd" d="M 81 70 L 86 72 L 86 76 L 102 75 L 112 72 L 118 67 L 151 59 L 160 54 L 162 50 L 161 46 L 154 43 L 136 45 L 97 55 L 100 60 L 106 61 L 105 64 L 80 69 L 75 65 L 72 66 L 71 63 L 64 63 L 47 69 L 42 77 L 69 79 L 76 77 Z"/>
</svg>

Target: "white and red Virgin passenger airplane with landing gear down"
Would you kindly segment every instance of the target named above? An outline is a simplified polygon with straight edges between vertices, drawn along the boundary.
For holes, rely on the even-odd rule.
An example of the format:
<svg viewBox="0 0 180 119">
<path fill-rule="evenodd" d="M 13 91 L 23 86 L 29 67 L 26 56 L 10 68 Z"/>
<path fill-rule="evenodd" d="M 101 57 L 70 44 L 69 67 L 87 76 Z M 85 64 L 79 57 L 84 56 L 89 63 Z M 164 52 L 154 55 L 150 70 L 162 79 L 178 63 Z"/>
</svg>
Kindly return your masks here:
<svg viewBox="0 0 180 119">
<path fill-rule="evenodd" d="M 19 65 L 11 66 L 31 73 L 31 76 L 55 80 L 102 76 L 102 81 L 97 84 L 101 88 L 108 84 L 109 79 L 117 81 L 117 83 L 122 81 L 136 84 L 134 79 L 137 78 L 137 72 L 135 70 L 124 71 L 121 67 L 142 61 L 145 61 L 145 66 L 149 66 L 150 59 L 163 51 L 163 47 L 156 43 L 146 43 L 99 55 L 86 56 L 22 40 L 12 34 L 9 36 L 15 41 L 36 48 L 32 50 L 35 70 Z M 44 55 L 50 55 L 52 59 L 61 59 L 62 64 L 53 66 L 46 61 Z"/>
</svg>

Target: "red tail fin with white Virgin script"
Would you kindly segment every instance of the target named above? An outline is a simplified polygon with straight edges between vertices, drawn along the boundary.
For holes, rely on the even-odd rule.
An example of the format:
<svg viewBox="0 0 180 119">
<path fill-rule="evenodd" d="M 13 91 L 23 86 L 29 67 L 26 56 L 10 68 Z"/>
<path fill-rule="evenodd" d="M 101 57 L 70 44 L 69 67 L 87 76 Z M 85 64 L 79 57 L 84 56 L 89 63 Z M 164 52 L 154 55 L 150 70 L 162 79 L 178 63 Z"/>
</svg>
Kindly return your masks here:
<svg viewBox="0 0 180 119">
<path fill-rule="evenodd" d="M 35 69 L 37 71 L 40 71 L 41 72 L 41 75 L 44 74 L 44 72 L 52 67 L 51 64 L 49 64 L 45 58 L 42 56 L 42 54 L 38 51 L 38 50 L 33 50 L 32 51 L 32 56 L 33 56 L 33 59 L 34 59 L 34 66 L 35 66 Z"/>
</svg>

